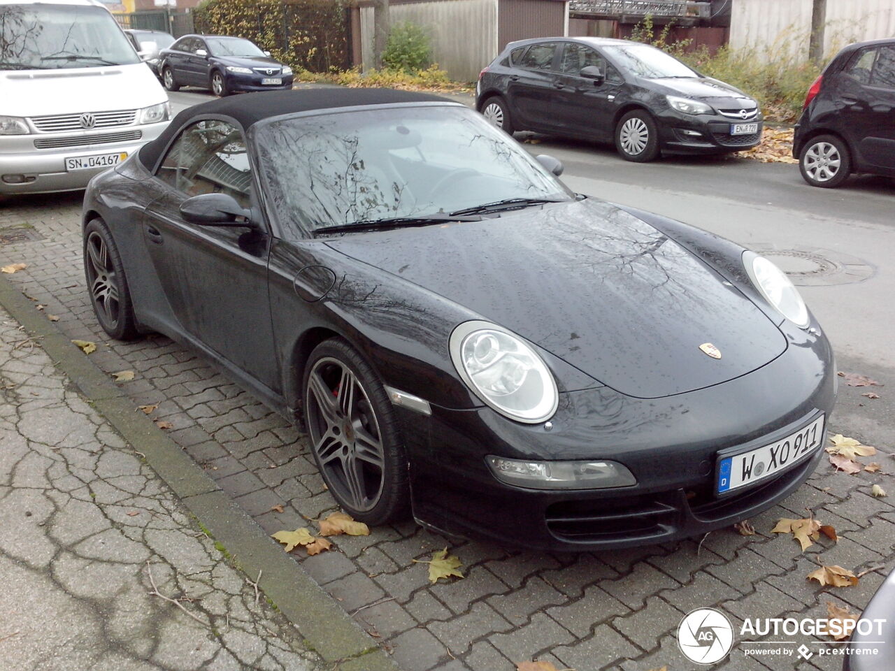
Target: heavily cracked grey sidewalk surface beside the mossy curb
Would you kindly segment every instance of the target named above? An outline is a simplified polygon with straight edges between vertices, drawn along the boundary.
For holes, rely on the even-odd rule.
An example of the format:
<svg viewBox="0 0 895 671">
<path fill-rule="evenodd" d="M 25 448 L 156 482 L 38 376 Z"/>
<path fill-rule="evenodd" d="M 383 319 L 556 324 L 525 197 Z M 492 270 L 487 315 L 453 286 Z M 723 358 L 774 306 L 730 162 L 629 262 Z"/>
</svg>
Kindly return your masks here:
<svg viewBox="0 0 895 671">
<path fill-rule="evenodd" d="M 0 584 L 11 671 L 319 668 L 3 310 Z"/>
</svg>

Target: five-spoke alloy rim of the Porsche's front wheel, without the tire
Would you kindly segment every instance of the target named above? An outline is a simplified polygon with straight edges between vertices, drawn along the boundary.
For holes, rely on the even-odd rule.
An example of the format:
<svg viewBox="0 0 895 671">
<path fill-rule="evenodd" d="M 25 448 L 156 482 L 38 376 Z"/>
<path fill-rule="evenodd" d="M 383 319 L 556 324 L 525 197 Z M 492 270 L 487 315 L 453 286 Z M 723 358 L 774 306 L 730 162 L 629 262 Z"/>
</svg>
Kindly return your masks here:
<svg viewBox="0 0 895 671">
<path fill-rule="evenodd" d="M 317 361 L 305 391 L 311 445 L 329 487 L 355 510 L 379 502 L 385 452 L 379 421 L 360 380 L 337 359 Z"/>
</svg>

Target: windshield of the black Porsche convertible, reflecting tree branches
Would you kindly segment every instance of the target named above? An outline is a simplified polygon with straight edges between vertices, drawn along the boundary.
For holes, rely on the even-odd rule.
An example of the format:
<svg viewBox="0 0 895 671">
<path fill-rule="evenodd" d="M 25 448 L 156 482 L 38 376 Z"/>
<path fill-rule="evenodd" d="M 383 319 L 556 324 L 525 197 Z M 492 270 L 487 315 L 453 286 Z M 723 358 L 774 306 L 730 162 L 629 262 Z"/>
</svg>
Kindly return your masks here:
<svg viewBox="0 0 895 671">
<path fill-rule="evenodd" d="M 277 219 L 298 236 L 302 225 L 315 231 L 503 200 L 574 198 L 506 133 L 465 107 L 292 117 L 260 126 L 255 142 Z"/>
</svg>

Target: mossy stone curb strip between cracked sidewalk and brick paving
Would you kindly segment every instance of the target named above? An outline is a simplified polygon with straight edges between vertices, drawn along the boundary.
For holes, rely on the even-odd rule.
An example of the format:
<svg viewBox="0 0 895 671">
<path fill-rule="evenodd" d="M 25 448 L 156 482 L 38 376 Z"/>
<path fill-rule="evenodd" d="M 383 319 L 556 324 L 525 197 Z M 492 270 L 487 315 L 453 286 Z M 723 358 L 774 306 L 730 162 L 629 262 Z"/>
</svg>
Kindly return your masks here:
<svg viewBox="0 0 895 671">
<path fill-rule="evenodd" d="M 217 487 L 183 449 L 142 412 L 10 280 L 0 277 L 0 306 L 38 340 L 44 352 L 96 410 L 145 456 L 183 505 L 222 543 L 247 575 L 294 624 L 308 646 L 340 671 L 398 671 L 395 662 L 338 606 L 301 565 Z"/>
</svg>

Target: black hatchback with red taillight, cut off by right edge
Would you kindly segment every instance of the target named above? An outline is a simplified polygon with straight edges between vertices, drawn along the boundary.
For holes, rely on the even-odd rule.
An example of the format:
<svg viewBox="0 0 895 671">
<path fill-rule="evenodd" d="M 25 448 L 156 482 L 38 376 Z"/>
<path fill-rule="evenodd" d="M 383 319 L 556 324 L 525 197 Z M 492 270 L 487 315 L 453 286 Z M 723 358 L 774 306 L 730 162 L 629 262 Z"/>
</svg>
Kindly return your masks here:
<svg viewBox="0 0 895 671">
<path fill-rule="evenodd" d="M 793 156 L 812 186 L 839 186 L 851 173 L 895 176 L 895 39 L 833 58 L 808 89 Z"/>
</svg>

